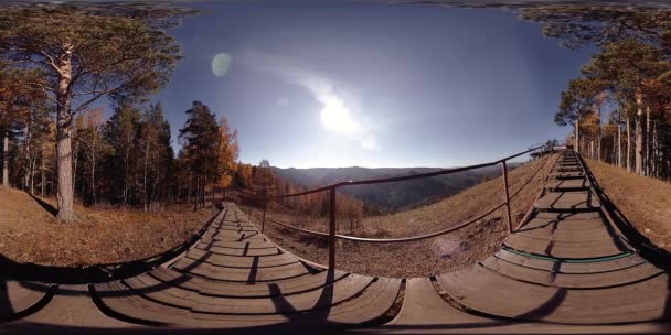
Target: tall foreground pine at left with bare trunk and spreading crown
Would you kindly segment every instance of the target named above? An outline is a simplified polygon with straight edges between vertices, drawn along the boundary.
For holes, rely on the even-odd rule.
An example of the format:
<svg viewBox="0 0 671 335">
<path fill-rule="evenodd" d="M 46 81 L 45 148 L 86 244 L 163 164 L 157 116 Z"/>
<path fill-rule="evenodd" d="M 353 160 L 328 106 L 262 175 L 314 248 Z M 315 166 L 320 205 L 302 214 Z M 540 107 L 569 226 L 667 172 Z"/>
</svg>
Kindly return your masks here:
<svg viewBox="0 0 671 335">
<path fill-rule="evenodd" d="M 106 11 L 93 6 L 0 9 L 0 55 L 50 78 L 32 86 L 47 93 L 56 105 L 57 217 L 62 221 L 75 218 L 71 145 L 75 115 L 103 97 L 128 101 L 156 93 L 172 73 L 179 46 L 149 22 L 149 18 L 157 21 L 173 14 L 161 13 L 162 18 L 159 13 L 138 17 L 136 8 L 124 12 L 123 7 Z"/>
</svg>

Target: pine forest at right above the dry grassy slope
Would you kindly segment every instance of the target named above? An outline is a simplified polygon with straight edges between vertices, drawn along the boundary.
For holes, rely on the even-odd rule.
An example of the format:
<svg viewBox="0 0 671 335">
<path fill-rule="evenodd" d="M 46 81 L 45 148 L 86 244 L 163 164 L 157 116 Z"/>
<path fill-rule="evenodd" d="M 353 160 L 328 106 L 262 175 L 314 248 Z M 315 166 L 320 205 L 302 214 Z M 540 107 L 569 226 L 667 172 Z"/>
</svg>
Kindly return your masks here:
<svg viewBox="0 0 671 335">
<path fill-rule="evenodd" d="M 555 122 L 573 127 L 585 156 L 639 175 L 671 179 L 671 11 L 536 7 L 521 10 L 563 46 L 596 45 L 561 93 Z"/>
</svg>

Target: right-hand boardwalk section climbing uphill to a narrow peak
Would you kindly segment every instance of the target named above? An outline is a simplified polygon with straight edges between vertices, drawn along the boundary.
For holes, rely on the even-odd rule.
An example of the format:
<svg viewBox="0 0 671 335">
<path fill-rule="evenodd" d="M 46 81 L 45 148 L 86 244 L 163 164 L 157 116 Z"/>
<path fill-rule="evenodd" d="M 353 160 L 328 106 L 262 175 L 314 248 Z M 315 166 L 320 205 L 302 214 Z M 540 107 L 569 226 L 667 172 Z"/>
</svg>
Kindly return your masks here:
<svg viewBox="0 0 671 335">
<path fill-rule="evenodd" d="M 557 160 L 531 219 L 480 264 L 438 281 L 484 315 L 557 323 L 626 323 L 668 316 L 669 274 L 609 225 L 573 151 Z"/>
</svg>

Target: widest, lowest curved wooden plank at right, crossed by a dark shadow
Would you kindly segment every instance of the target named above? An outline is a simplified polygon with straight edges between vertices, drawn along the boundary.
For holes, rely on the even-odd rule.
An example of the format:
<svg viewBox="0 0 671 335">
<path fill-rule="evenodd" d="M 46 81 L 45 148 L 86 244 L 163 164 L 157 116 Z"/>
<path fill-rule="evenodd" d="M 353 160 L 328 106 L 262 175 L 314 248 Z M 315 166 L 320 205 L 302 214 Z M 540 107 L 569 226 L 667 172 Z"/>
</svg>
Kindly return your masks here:
<svg viewBox="0 0 671 335">
<path fill-rule="evenodd" d="M 440 275 L 438 281 L 452 299 L 469 309 L 561 323 L 654 320 L 663 315 L 669 293 L 667 275 L 616 288 L 572 290 L 525 283 L 475 267 Z"/>
</svg>

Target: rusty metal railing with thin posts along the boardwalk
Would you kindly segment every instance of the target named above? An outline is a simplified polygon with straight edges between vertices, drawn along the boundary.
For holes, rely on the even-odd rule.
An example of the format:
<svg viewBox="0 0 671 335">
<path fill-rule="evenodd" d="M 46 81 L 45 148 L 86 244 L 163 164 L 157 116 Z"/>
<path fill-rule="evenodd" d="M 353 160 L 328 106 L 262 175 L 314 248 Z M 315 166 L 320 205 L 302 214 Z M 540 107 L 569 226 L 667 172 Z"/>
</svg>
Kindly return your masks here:
<svg viewBox="0 0 671 335">
<path fill-rule="evenodd" d="M 265 230 L 265 224 L 266 220 L 270 221 L 273 224 L 277 224 L 279 226 L 283 226 L 285 228 L 289 228 L 292 230 L 297 230 L 300 233 L 305 233 L 305 234 L 310 234 L 310 235 L 316 235 L 316 236 L 322 236 L 322 237 L 328 237 L 329 240 L 329 268 L 330 269 L 334 269 L 336 268 L 336 240 L 337 239 L 344 239 L 344 240 L 351 240 L 351 241 L 361 241 L 361 242 L 407 242 L 407 241 L 416 241 L 416 240 L 422 240 L 422 239 L 426 239 L 426 238 L 432 238 L 432 237 L 436 237 L 436 236 L 440 236 L 444 234 L 448 234 L 458 229 L 461 229 L 466 226 L 469 226 L 471 224 L 473 224 L 475 221 L 478 221 L 484 217 L 487 217 L 488 215 L 494 213 L 496 210 L 500 209 L 501 207 L 505 206 L 505 223 L 508 226 L 508 234 L 511 234 L 513 231 L 512 228 L 512 214 L 511 214 L 511 206 L 510 206 L 510 202 L 511 199 L 518 195 L 520 193 L 520 191 L 522 191 L 522 188 L 524 188 L 532 180 L 533 177 L 535 177 L 535 175 L 537 174 L 539 171 L 543 170 L 544 165 L 542 165 L 536 172 L 534 172 L 532 174 L 531 177 L 529 177 L 529 180 L 526 180 L 518 190 L 515 190 L 515 192 L 513 192 L 512 194 L 510 193 L 510 187 L 509 187 L 509 182 L 508 182 L 508 161 L 515 159 L 518 156 L 524 155 L 526 153 L 536 151 L 539 149 L 541 149 L 541 152 L 543 152 L 543 149 L 546 148 L 546 144 L 542 144 L 542 145 L 537 145 L 534 148 L 531 148 L 526 151 L 523 152 L 519 152 L 515 153 L 513 155 L 507 156 L 504 159 L 498 160 L 498 161 L 493 161 L 493 162 L 489 162 L 489 163 L 481 163 L 481 164 L 476 164 L 476 165 L 469 165 L 469 166 L 462 166 L 462 168 L 456 168 L 456 169 L 446 169 L 446 170 L 440 170 L 440 171 L 435 171 L 435 172 L 428 172 L 428 173 L 420 173 L 420 174 L 412 174 L 412 175 L 403 175 L 403 176 L 395 176 L 395 177 L 385 177 L 385 179 L 373 179 L 373 180 L 363 180 L 363 181 L 347 181 L 347 182 L 340 182 L 340 183 L 336 183 L 332 185 L 328 185 L 324 187 L 319 187 L 319 188 L 313 188 L 313 190 L 309 190 L 309 191 L 305 191 L 305 192 L 299 192 L 299 193 L 292 193 L 292 194 L 284 194 L 284 195 L 277 195 L 277 196 L 269 196 L 269 197 L 263 197 L 263 198 L 257 198 L 257 201 L 259 201 L 260 203 L 263 203 L 263 214 L 260 215 L 260 219 L 262 219 L 262 225 L 260 225 L 260 230 L 262 234 Z M 548 148 L 548 150 L 545 151 L 550 151 L 552 152 L 552 148 Z M 501 165 L 501 170 L 502 170 L 502 176 L 503 176 L 503 195 L 504 198 L 503 201 L 493 206 L 492 208 L 486 210 L 484 213 L 470 218 L 466 221 L 459 223 L 456 226 L 452 226 L 450 228 L 446 228 L 443 230 L 438 230 L 438 231 L 434 231 L 434 233 L 428 233 L 428 234 L 424 234 L 424 235 L 418 235 L 418 236 L 412 236 L 412 237 L 403 237 L 403 238 L 363 238 L 363 237 L 355 237 L 355 236 L 347 236 L 347 235 L 340 235 L 340 234 L 336 234 L 336 214 L 337 214 L 337 190 L 339 187 L 343 187 L 343 186 L 352 186 L 352 185 L 370 185 L 370 184 L 381 184 L 381 183 L 394 183 L 394 182 L 402 182 L 402 181 L 409 181 L 409 180 L 417 180 L 417 179 L 426 179 L 426 177 L 433 177 L 433 176 L 439 176 L 439 175 L 447 175 L 447 174 L 452 174 L 452 173 L 458 173 L 458 172 L 464 172 L 464 171 L 469 171 L 469 170 L 475 170 L 475 169 L 481 169 L 481 168 L 488 168 L 488 166 L 493 166 L 493 165 Z M 309 195 L 309 194 L 316 194 L 316 193 L 320 193 L 320 192 L 328 192 L 328 196 L 329 196 L 329 230 L 328 233 L 322 233 L 322 231 L 316 231 L 316 230 L 310 230 L 310 229 L 303 229 L 303 228 L 299 228 L 299 227 L 295 227 L 291 225 L 287 225 L 285 223 L 280 223 L 278 220 L 271 219 L 271 218 L 267 218 L 266 217 L 266 212 L 267 212 L 267 206 L 268 206 L 268 202 L 270 201 L 275 201 L 275 199 L 283 199 L 283 198 L 289 198 L 289 197 L 297 197 L 297 196 L 303 196 L 303 195 Z"/>
</svg>

